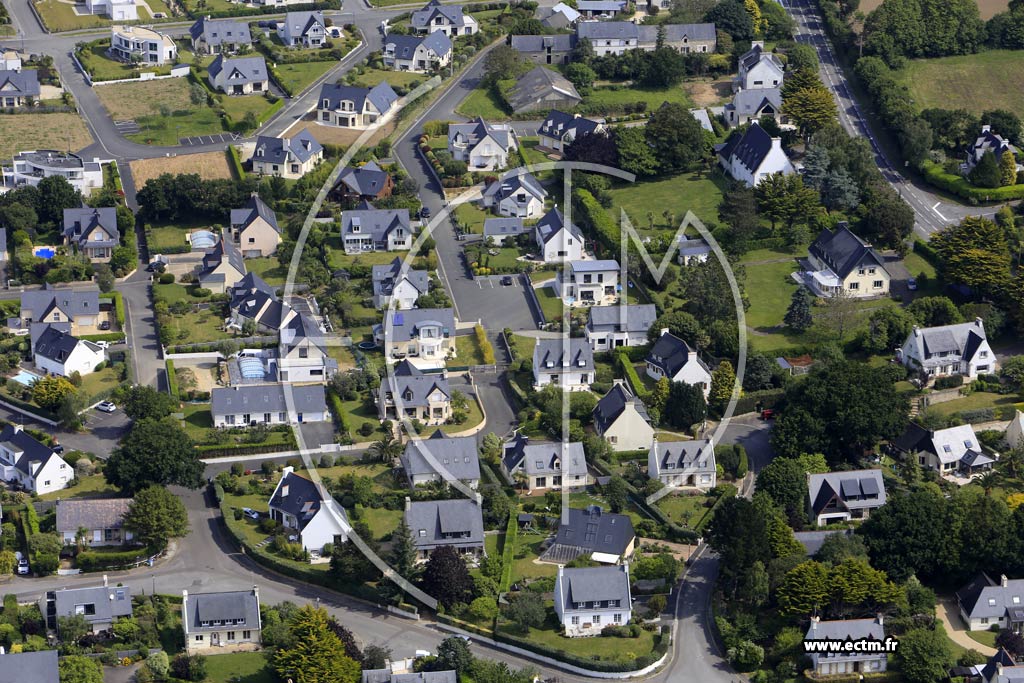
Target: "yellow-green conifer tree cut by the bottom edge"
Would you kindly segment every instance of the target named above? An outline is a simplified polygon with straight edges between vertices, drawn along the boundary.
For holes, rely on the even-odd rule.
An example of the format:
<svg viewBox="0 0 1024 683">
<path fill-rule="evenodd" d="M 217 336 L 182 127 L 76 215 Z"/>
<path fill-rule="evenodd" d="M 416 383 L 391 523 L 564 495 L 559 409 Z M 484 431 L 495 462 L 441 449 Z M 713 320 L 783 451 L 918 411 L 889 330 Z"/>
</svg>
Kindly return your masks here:
<svg viewBox="0 0 1024 683">
<path fill-rule="evenodd" d="M 292 643 L 273 654 L 282 679 L 295 683 L 355 683 L 359 665 L 345 654 L 345 645 L 329 625 L 327 610 L 303 605 L 289 620 Z"/>
</svg>

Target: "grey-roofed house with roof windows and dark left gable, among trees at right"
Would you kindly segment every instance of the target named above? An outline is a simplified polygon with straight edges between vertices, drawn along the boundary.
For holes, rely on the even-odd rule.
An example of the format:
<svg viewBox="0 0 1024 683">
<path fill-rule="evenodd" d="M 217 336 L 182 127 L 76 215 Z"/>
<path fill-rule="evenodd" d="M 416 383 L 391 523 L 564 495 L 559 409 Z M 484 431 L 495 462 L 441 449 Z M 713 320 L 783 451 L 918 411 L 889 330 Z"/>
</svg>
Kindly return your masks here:
<svg viewBox="0 0 1024 683">
<path fill-rule="evenodd" d="M 886 504 L 882 470 L 849 470 L 807 475 L 807 509 L 811 522 L 867 519 Z"/>
</svg>

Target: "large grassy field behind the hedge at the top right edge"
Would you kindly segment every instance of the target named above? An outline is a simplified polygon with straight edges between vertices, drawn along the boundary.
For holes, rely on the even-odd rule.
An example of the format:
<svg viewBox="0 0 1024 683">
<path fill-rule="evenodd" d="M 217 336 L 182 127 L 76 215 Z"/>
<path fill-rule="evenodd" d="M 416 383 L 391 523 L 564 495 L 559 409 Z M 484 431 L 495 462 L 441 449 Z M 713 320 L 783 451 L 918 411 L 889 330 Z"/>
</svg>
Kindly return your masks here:
<svg viewBox="0 0 1024 683">
<path fill-rule="evenodd" d="M 1024 51 L 985 50 L 977 54 L 912 59 L 897 72 L 914 108 L 948 109 L 951 102 L 973 114 L 1024 109 Z"/>
</svg>

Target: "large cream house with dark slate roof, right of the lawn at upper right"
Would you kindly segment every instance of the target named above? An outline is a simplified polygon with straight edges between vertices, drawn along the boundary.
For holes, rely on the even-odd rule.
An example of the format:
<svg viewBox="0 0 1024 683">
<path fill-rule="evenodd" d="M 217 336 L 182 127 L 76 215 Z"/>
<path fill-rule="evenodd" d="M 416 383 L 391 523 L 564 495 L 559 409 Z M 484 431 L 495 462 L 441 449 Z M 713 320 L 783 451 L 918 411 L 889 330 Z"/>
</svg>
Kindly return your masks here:
<svg viewBox="0 0 1024 683">
<path fill-rule="evenodd" d="M 889 271 L 882 254 L 839 223 L 835 230 L 822 229 L 807 250 L 804 283 L 817 296 L 868 297 L 889 294 Z"/>
</svg>

